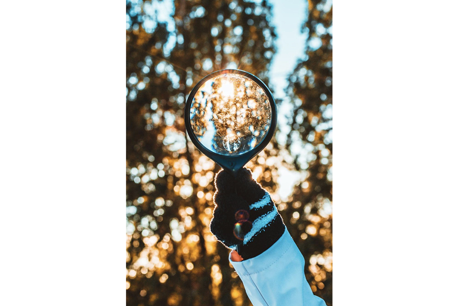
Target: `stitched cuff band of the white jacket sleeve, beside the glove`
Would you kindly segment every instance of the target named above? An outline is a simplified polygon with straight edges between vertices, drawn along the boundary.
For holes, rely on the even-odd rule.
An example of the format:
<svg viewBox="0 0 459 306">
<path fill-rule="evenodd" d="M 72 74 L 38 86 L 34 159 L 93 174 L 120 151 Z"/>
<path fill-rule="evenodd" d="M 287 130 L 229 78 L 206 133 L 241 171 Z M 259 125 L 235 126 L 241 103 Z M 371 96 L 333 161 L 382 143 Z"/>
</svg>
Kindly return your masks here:
<svg viewBox="0 0 459 306">
<path fill-rule="evenodd" d="M 292 246 L 296 246 L 296 244 L 284 225 L 284 234 L 282 234 L 281 238 L 260 255 L 241 262 L 234 262 L 229 257 L 228 260 L 230 260 L 230 263 L 239 276 L 250 275 L 261 272 L 273 265 L 277 260 L 281 259 Z"/>
</svg>

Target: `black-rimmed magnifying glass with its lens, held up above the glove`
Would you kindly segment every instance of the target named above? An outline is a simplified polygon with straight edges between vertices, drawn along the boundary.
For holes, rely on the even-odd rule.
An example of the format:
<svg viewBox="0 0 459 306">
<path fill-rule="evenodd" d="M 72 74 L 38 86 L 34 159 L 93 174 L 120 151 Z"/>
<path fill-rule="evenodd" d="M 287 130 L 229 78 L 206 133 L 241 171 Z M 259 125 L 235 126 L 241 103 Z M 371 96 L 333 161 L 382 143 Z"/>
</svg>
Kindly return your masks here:
<svg viewBox="0 0 459 306">
<path fill-rule="evenodd" d="M 276 123 L 268 87 L 237 69 L 207 75 L 191 90 L 185 106 L 185 126 L 193 144 L 234 175 L 265 148 Z"/>
</svg>

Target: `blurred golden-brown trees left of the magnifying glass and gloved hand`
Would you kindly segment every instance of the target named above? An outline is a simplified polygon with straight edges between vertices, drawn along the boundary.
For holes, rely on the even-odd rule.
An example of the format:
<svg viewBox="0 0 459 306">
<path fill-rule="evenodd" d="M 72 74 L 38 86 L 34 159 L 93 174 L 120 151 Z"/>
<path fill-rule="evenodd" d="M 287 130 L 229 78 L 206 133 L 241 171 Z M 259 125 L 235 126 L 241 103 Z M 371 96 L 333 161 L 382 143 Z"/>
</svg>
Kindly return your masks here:
<svg viewBox="0 0 459 306">
<path fill-rule="evenodd" d="M 129 305 L 250 304 L 227 249 L 209 231 L 219 167 L 187 139 L 183 109 L 192 86 L 222 68 L 269 84 L 270 18 L 266 2 L 126 2 Z"/>
</svg>

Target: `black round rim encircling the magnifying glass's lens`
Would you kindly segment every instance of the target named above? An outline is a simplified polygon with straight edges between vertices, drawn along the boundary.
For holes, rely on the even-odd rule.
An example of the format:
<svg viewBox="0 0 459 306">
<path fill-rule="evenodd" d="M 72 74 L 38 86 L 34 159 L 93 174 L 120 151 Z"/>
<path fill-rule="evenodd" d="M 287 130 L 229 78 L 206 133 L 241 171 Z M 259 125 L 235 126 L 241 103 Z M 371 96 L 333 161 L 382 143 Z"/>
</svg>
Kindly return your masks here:
<svg viewBox="0 0 459 306">
<path fill-rule="evenodd" d="M 198 91 L 198 89 L 201 87 L 203 83 L 206 83 L 209 79 L 216 77 L 217 75 L 220 74 L 225 74 L 225 73 L 235 73 L 235 74 L 240 74 L 243 75 L 244 77 L 249 78 L 250 80 L 254 81 L 257 83 L 261 88 L 266 93 L 266 96 L 268 97 L 269 104 L 271 106 L 271 125 L 269 126 L 268 133 L 266 134 L 265 138 L 262 140 L 262 142 L 254 147 L 252 150 L 249 150 L 245 152 L 244 154 L 241 155 L 236 155 L 236 156 L 225 156 L 225 155 L 220 155 L 218 153 L 212 152 L 205 146 L 203 146 L 199 140 L 197 139 L 196 135 L 194 135 L 193 130 L 191 129 L 191 119 L 190 119 L 190 110 L 191 110 L 191 103 L 193 101 L 193 98 Z M 188 95 L 187 102 L 185 105 L 185 127 L 187 130 L 188 137 L 190 137 L 191 141 L 193 144 L 198 148 L 199 151 L 202 152 L 202 154 L 206 155 L 209 157 L 211 160 L 219 164 L 223 169 L 226 171 L 236 174 L 236 172 L 244 167 L 244 165 L 251 160 L 254 156 L 259 154 L 271 141 L 272 136 L 274 135 L 274 132 L 276 130 L 277 126 L 277 107 L 274 101 L 274 97 L 269 90 L 269 88 L 263 83 L 259 78 L 257 78 L 255 75 L 244 71 L 244 70 L 239 70 L 239 69 L 223 69 L 223 70 L 218 70 L 215 72 L 212 72 L 211 74 L 207 75 L 205 78 L 200 80 L 191 90 L 190 94 Z"/>
</svg>

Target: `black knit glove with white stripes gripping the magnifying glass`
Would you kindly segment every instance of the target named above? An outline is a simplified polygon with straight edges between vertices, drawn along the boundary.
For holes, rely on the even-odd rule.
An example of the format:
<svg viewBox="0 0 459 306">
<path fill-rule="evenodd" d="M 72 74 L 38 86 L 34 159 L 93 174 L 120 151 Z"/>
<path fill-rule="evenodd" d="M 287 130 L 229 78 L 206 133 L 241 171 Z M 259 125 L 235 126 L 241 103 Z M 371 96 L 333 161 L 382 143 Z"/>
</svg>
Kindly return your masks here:
<svg viewBox="0 0 459 306">
<path fill-rule="evenodd" d="M 284 234 L 284 222 L 271 196 L 252 179 L 250 170 L 240 169 L 236 179 L 221 170 L 215 175 L 215 187 L 210 230 L 244 260 L 263 253 Z"/>
</svg>

